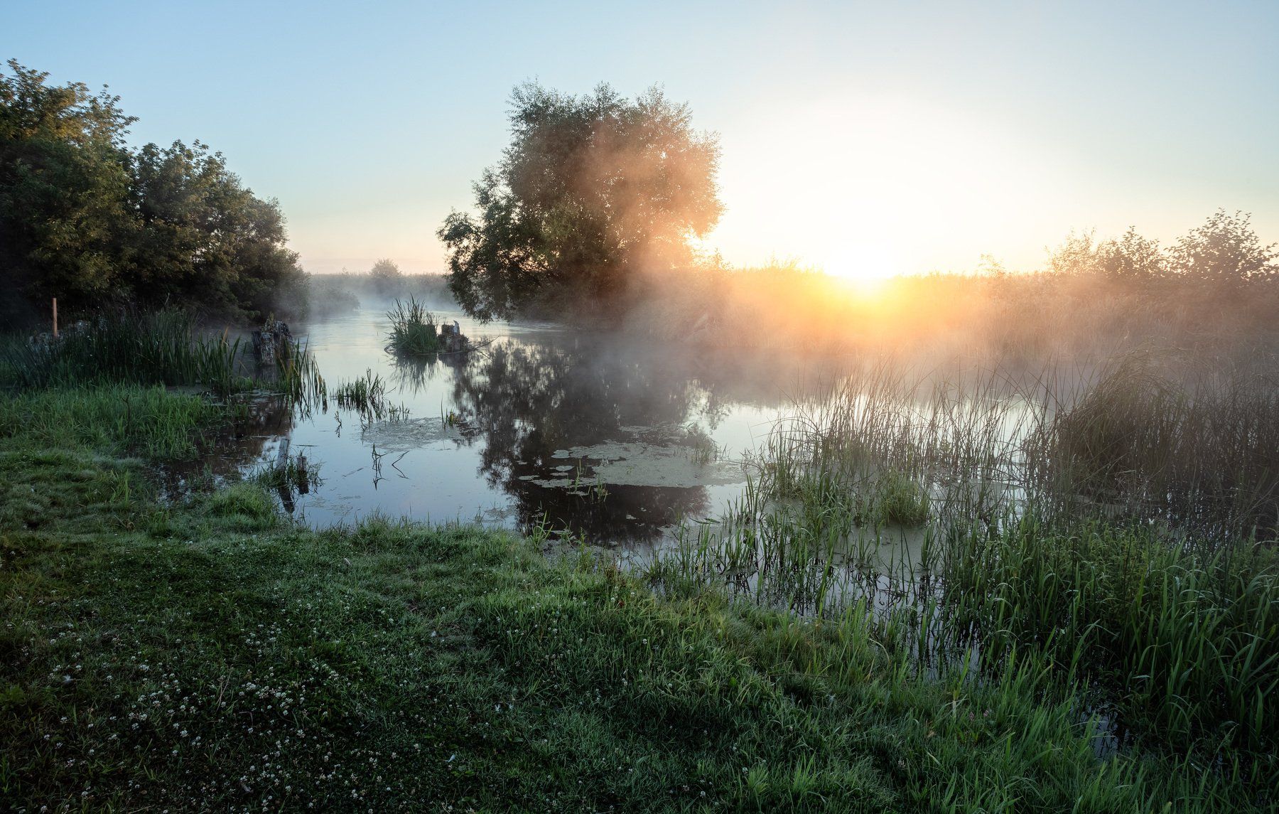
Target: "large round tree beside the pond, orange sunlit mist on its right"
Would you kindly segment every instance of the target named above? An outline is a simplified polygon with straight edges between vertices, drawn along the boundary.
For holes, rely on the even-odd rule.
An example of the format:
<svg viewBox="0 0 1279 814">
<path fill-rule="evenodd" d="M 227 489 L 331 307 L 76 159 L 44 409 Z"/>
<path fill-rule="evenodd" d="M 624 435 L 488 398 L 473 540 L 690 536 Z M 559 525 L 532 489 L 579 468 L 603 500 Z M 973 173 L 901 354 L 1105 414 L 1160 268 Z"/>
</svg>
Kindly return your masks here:
<svg viewBox="0 0 1279 814">
<path fill-rule="evenodd" d="M 439 230 L 449 288 L 481 319 L 536 302 L 616 305 L 645 269 L 693 259 L 723 206 L 719 143 L 659 88 L 634 100 L 608 84 L 585 96 L 518 86 L 512 143 L 475 184 L 476 214 Z"/>
</svg>

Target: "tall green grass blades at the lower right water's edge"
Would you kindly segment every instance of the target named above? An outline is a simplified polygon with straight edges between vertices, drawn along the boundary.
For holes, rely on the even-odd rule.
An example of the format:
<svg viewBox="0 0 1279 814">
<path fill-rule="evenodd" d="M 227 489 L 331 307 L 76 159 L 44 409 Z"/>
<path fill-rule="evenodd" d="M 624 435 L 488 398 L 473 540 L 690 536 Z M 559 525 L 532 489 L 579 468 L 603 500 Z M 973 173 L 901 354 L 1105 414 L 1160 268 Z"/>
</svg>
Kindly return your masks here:
<svg viewBox="0 0 1279 814">
<path fill-rule="evenodd" d="M 943 555 L 950 631 L 987 669 L 1013 651 L 1085 682 L 1159 747 L 1198 747 L 1242 770 L 1276 770 L 1279 558 L 1239 540 L 1214 553 L 1149 526 L 1046 522 L 950 535 Z"/>
</svg>

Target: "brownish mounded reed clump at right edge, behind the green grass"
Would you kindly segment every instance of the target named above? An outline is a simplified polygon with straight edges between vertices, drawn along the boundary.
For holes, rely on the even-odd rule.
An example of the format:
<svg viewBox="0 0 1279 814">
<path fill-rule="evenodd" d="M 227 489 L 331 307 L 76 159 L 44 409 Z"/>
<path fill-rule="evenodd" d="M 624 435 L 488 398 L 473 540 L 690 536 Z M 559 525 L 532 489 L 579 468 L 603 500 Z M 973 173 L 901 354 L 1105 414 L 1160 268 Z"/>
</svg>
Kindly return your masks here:
<svg viewBox="0 0 1279 814">
<path fill-rule="evenodd" d="M 1036 486 L 1214 535 L 1274 536 L 1279 385 L 1131 353 L 1082 398 L 1044 416 L 1027 443 Z"/>
</svg>

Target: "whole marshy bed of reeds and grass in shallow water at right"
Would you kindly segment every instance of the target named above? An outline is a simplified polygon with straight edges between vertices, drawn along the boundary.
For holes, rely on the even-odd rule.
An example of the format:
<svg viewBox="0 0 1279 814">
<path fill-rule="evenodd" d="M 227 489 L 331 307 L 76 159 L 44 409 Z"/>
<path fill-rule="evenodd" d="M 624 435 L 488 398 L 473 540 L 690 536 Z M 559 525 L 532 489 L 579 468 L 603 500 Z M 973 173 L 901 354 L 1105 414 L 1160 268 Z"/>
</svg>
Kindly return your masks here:
<svg viewBox="0 0 1279 814">
<path fill-rule="evenodd" d="M 1274 393 L 1132 356 L 1091 378 L 868 366 L 797 406 L 743 497 L 645 575 L 688 600 L 861 608 L 912 669 L 1030 669 L 1129 742 L 1264 788 L 1279 768 Z M 899 526 L 920 526 L 914 543 Z"/>
</svg>

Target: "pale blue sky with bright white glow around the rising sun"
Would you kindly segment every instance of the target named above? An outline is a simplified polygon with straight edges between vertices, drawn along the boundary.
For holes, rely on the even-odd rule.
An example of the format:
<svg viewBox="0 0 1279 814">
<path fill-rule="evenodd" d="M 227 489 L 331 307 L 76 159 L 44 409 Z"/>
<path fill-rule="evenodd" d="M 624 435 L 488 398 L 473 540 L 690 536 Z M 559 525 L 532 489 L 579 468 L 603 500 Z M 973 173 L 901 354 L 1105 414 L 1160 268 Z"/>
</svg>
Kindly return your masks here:
<svg viewBox="0 0 1279 814">
<path fill-rule="evenodd" d="M 200 140 L 278 198 L 307 270 L 435 237 L 509 142 L 512 87 L 660 84 L 719 133 L 735 265 L 1039 267 L 1072 230 L 1279 241 L 1279 3 L 58 3 L 0 58 L 109 84 L 130 140 Z"/>
</svg>

